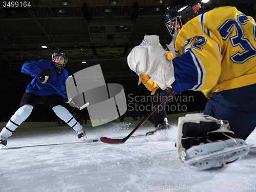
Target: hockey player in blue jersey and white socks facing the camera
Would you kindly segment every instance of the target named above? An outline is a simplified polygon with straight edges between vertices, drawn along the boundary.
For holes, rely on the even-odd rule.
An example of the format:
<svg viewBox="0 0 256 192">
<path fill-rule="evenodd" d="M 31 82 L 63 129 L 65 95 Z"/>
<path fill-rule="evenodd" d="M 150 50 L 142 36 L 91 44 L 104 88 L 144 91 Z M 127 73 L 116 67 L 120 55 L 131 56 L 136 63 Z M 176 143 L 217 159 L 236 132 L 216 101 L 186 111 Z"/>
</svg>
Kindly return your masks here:
<svg viewBox="0 0 256 192">
<path fill-rule="evenodd" d="M 34 79 L 28 84 L 18 110 L 0 133 L 0 149 L 7 144 L 7 138 L 29 117 L 37 104 L 48 106 L 60 119 L 65 121 L 77 132 L 79 139 L 82 141 L 87 140 L 86 132 L 84 132 L 82 126 L 72 114 L 62 106 L 63 102 L 69 102 L 68 99 L 60 96 L 59 93 L 48 84 L 53 84 L 61 93 L 67 94 L 65 84 L 69 75 L 67 70 L 63 68 L 66 66 L 67 61 L 68 56 L 65 51 L 56 50 L 52 54 L 52 61 L 38 60 L 24 63 L 22 73 L 31 75 Z"/>
</svg>

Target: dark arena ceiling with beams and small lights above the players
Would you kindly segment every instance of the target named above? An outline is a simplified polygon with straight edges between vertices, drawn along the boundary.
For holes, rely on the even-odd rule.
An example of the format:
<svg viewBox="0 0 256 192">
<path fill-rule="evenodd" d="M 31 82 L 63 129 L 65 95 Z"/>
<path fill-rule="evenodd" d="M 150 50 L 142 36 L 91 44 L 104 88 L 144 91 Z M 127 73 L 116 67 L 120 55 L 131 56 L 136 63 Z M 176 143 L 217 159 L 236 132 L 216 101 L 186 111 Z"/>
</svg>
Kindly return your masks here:
<svg viewBox="0 0 256 192">
<path fill-rule="evenodd" d="M 69 74 L 100 64 L 106 82 L 125 85 L 138 79 L 126 56 L 145 34 L 159 35 L 163 46 L 170 41 L 164 10 L 172 0 L 32 0 L 26 1 L 27 7 L 25 1 L 18 1 L 18 7 L 3 7 L 4 2 L 0 2 L 0 98 L 31 80 L 20 73 L 25 61 L 51 59 L 56 49 L 69 55 Z M 255 0 L 204 4 L 206 11 L 219 6 L 236 6 L 256 18 Z"/>
</svg>

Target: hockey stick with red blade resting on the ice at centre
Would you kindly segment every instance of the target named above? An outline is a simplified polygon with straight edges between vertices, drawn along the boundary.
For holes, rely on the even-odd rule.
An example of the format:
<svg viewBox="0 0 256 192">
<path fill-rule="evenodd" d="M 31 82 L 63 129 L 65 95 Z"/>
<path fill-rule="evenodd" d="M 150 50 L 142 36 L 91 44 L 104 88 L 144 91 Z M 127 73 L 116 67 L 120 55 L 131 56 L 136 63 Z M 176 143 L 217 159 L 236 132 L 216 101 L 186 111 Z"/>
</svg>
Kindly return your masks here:
<svg viewBox="0 0 256 192">
<path fill-rule="evenodd" d="M 169 94 L 167 98 L 169 98 L 171 95 L 175 94 L 175 92 L 173 91 L 172 93 Z M 166 99 L 164 99 L 164 101 L 166 101 Z M 158 105 L 157 109 L 164 103 L 164 101 Z M 157 106 L 157 104 L 155 105 Z M 154 106 L 154 107 L 155 107 Z M 154 108 L 153 108 L 154 109 Z M 157 109 L 155 109 L 155 111 L 157 111 Z M 109 143 L 109 144 L 122 144 L 124 143 L 127 139 L 129 139 L 133 134 L 134 132 L 136 132 L 137 129 L 139 129 L 139 127 L 148 119 L 150 118 L 150 116 L 155 113 L 155 111 L 153 111 L 150 115 L 147 115 L 146 117 L 144 117 L 144 119 L 142 119 L 142 121 L 140 121 L 140 123 L 135 127 L 135 129 L 128 135 L 126 136 L 125 138 L 123 139 L 111 139 L 111 138 L 108 138 L 108 137 L 101 137 L 100 140 L 103 142 L 103 143 Z"/>
</svg>

